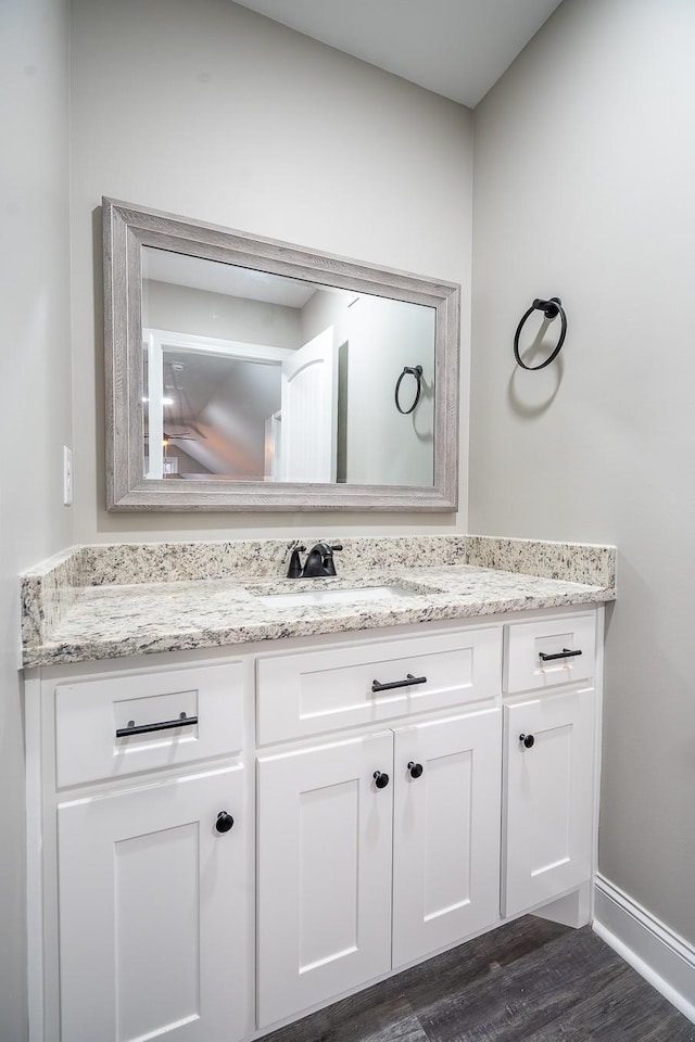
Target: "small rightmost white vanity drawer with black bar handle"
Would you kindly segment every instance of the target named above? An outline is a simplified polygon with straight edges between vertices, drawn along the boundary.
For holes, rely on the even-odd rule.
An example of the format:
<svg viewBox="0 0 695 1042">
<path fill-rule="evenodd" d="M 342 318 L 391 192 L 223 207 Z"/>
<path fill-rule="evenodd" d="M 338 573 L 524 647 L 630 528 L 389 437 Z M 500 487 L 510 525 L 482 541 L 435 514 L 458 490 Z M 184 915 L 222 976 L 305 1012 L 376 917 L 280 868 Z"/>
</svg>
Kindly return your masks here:
<svg viewBox="0 0 695 1042">
<path fill-rule="evenodd" d="M 593 611 L 515 622 L 504 630 L 507 694 L 556 687 L 594 675 L 596 617 Z"/>
</svg>

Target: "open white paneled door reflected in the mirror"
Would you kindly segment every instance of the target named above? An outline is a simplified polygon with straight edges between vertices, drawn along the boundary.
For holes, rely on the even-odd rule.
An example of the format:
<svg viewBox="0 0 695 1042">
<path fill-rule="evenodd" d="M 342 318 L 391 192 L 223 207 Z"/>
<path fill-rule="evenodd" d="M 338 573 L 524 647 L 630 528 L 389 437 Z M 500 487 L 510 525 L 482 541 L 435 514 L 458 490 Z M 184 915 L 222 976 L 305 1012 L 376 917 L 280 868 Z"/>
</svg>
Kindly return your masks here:
<svg viewBox="0 0 695 1042">
<path fill-rule="evenodd" d="M 336 481 L 338 352 L 332 326 L 282 363 L 281 415 L 281 480 Z"/>
</svg>

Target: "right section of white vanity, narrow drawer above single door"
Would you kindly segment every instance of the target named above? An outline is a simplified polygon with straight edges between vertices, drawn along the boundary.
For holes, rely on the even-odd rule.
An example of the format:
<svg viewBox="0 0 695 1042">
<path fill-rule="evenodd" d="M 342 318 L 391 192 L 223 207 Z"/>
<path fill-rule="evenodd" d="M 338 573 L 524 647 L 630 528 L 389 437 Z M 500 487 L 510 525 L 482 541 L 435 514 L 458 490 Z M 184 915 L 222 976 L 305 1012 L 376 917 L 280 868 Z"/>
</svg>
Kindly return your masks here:
<svg viewBox="0 0 695 1042">
<path fill-rule="evenodd" d="M 592 875 L 596 647 L 594 611 L 505 626 L 505 916 Z"/>
</svg>

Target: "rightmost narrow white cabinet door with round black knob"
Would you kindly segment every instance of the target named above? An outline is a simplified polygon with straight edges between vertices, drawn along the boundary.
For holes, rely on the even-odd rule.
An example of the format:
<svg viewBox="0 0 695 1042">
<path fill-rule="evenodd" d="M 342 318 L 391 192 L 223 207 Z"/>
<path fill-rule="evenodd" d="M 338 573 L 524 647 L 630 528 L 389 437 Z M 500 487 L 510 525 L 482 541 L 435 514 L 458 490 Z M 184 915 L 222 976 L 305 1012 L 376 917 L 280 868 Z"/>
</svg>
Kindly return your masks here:
<svg viewBox="0 0 695 1042">
<path fill-rule="evenodd" d="M 594 690 L 541 695 L 505 714 L 503 912 L 516 915 L 591 876 Z"/>
</svg>

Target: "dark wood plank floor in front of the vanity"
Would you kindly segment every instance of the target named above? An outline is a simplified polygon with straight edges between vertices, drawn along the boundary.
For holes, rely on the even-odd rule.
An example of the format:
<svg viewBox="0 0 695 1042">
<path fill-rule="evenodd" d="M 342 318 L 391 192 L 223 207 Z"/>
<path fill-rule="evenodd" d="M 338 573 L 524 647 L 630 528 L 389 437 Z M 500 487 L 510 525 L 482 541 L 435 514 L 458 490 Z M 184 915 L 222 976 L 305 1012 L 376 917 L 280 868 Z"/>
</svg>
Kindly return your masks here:
<svg viewBox="0 0 695 1042">
<path fill-rule="evenodd" d="M 527 916 L 264 1042 L 695 1042 L 590 927 Z"/>
</svg>

